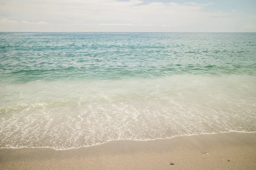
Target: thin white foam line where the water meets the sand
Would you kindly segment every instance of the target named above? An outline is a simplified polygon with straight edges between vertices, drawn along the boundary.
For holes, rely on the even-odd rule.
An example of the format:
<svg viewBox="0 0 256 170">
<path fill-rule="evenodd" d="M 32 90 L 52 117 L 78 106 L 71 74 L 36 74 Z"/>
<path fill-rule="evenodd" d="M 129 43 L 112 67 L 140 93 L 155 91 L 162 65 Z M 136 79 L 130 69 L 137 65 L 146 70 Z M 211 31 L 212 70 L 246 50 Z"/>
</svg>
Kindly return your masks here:
<svg viewBox="0 0 256 170">
<path fill-rule="evenodd" d="M 181 136 L 199 136 L 199 135 L 213 135 L 213 134 L 221 134 L 221 133 L 256 133 L 256 131 L 253 132 L 244 132 L 244 131 L 237 131 L 237 130 L 232 130 L 232 131 L 228 131 L 228 132 L 214 132 L 214 133 L 200 133 L 200 134 L 191 134 L 191 135 L 180 135 L 180 136 L 172 136 L 172 137 L 168 137 L 168 138 L 155 138 L 155 139 L 116 139 L 116 140 L 110 140 L 107 142 L 103 142 L 103 143 L 98 143 L 98 144 L 93 144 L 90 146 L 81 146 L 81 147 L 69 147 L 69 148 L 64 148 L 64 149 L 58 149 L 55 147 L 26 147 L 26 146 L 21 146 L 21 147 L 1 147 L 0 149 L 21 149 L 21 148 L 49 148 L 49 149 L 54 149 L 54 150 L 70 150 L 70 149 L 79 149 L 82 147 L 93 147 L 93 146 L 97 146 L 100 144 L 105 144 L 108 142 L 113 142 L 113 141 L 154 141 L 154 140 L 164 140 L 164 139 L 172 139 L 175 137 L 181 137 Z"/>
</svg>

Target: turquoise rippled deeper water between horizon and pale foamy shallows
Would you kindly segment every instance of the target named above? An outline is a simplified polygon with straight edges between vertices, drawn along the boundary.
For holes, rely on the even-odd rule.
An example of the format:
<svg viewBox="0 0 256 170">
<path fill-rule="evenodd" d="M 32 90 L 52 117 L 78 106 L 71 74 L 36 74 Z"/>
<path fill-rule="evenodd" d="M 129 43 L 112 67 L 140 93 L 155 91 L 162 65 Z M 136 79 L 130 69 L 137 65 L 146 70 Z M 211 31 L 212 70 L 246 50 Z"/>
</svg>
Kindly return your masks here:
<svg viewBox="0 0 256 170">
<path fill-rule="evenodd" d="M 5 82 L 256 71 L 255 33 L 1 33 L 0 42 Z"/>
</svg>

